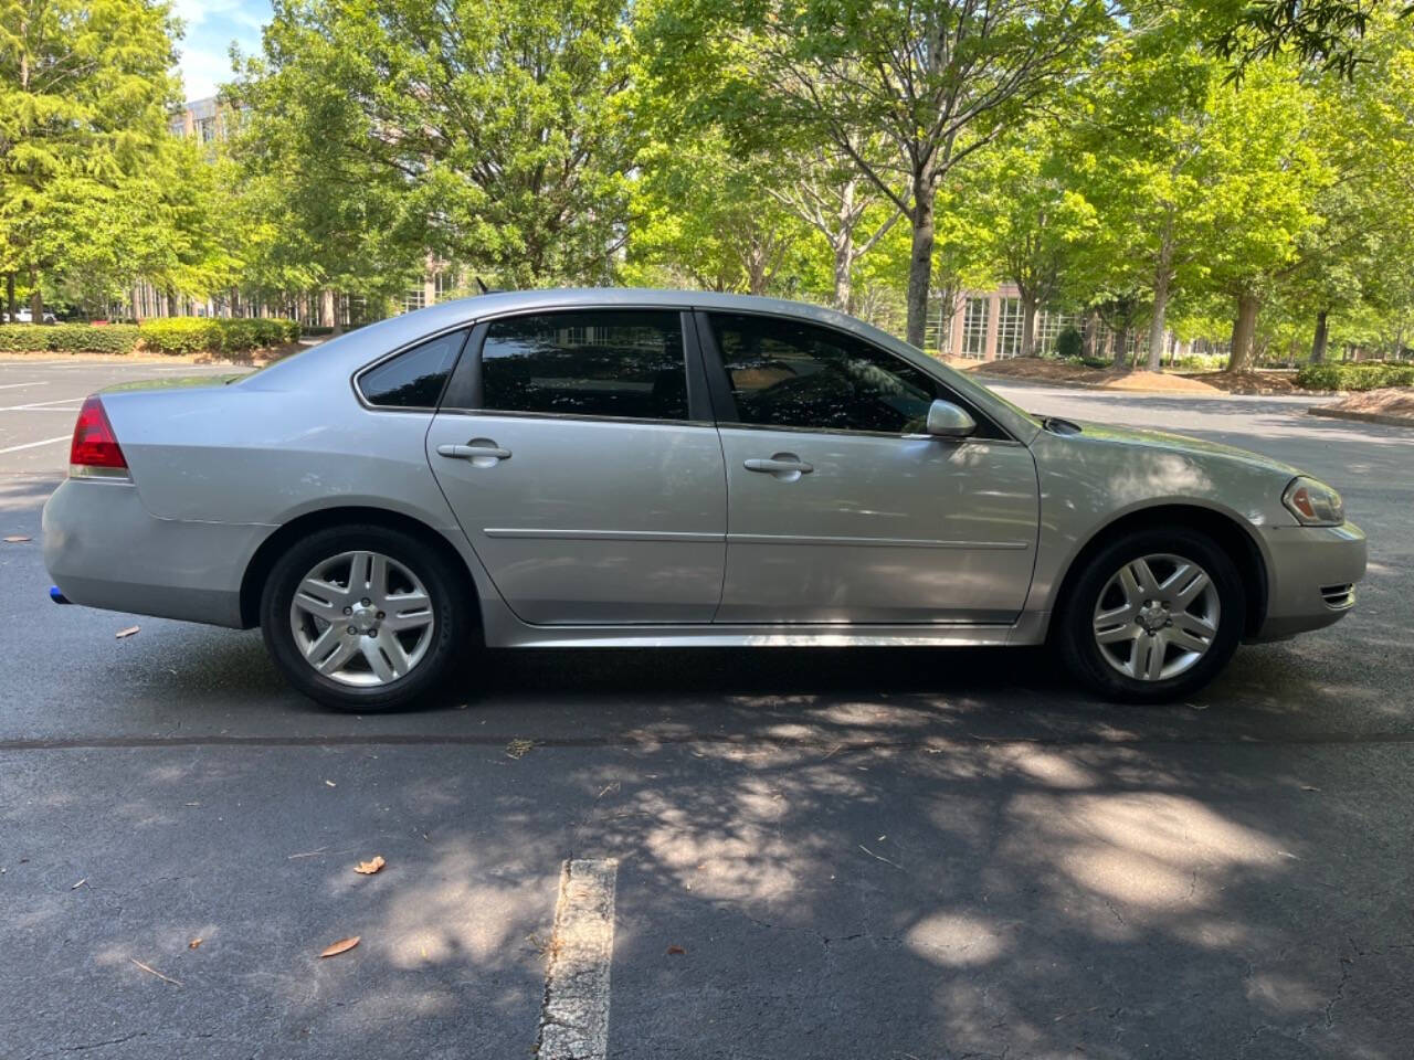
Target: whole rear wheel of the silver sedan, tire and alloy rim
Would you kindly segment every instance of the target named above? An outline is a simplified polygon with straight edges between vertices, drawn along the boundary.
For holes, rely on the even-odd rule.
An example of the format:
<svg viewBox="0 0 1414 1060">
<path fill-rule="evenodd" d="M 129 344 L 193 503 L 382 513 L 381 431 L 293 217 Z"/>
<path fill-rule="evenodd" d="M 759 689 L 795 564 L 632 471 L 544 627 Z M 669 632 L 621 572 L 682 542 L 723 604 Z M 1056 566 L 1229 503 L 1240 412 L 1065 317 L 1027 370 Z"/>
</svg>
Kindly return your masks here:
<svg viewBox="0 0 1414 1060">
<path fill-rule="evenodd" d="M 468 643 L 465 596 L 424 541 L 382 526 L 331 527 L 276 561 L 260 629 L 305 695 L 344 711 L 396 709 L 431 693 Z"/>
</svg>

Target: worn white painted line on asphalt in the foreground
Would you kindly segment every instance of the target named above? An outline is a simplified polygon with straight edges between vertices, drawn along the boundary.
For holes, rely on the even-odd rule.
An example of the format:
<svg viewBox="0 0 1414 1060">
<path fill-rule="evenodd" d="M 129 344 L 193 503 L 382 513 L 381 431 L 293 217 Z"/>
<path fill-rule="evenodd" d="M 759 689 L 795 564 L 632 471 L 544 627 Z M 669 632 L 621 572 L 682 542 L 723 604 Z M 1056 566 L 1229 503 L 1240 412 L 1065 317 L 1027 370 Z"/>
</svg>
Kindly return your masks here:
<svg viewBox="0 0 1414 1060">
<path fill-rule="evenodd" d="M 609 1047 L 609 964 L 618 862 L 567 861 L 560 869 L 550 968 L 534 1054 L 604 1060 Z"/>
</svg>

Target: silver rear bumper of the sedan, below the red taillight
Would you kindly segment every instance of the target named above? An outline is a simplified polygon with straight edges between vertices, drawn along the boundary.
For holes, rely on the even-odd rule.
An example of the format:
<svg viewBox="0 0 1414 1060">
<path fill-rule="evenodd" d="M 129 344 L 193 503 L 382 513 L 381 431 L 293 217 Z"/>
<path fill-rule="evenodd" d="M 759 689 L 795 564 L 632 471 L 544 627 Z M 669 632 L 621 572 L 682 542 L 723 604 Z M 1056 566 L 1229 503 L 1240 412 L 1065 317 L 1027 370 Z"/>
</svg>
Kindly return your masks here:
<svg viewBox="0 0 1414 1060">
<path fill-rule="evenodd" d="M 130 482 L 65 481 L 44 505 L 44 564 L 74 603 L 240 623 L 246 561 L 264 526 L 157 519 Z"/>
</svg>

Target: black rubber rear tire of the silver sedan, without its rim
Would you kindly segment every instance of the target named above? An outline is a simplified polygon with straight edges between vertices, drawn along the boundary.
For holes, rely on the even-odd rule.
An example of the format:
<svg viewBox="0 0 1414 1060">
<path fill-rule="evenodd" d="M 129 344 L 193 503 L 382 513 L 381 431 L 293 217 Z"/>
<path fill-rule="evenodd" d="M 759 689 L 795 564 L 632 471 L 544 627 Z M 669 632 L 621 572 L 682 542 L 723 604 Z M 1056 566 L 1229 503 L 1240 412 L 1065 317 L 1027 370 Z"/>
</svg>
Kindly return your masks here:
<svg viewBox="0 0 1414 1060">
<path fill-rule="evenodd" d="M 314 670 L 296 643 L 290 605 L 305 574 L 328 557 L 346 551 L 382 553 L 411 571 L 430 598 L 433 630 L 426 653 L 411 670 L 373 687 L 335 681 Z M 445 680 L 474 637 L 474 603 L 465 578 L 447 557 L 411 534 L 376 524 L 317 530 L 281 555 L 260 594 L 260 632 L 286 678 L 311 700 L 349 712 L 406 709 Z"/>
</svg>

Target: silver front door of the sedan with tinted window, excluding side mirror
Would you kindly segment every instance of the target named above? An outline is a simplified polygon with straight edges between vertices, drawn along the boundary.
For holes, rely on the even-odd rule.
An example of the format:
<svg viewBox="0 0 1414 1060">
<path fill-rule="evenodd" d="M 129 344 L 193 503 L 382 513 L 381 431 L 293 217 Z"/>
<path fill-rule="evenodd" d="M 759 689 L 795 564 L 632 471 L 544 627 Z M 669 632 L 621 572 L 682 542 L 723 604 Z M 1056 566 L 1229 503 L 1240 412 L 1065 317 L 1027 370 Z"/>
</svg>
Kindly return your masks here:
<svg viewBox="0 0 1414 1060">
<path fill-rule="evenodd" d="M 1012 622 L 1031 584 L 1029 449 L 860 336 L 699 314 L 727 461 L 718 622 Z M 978 421 L 923 434 L 935 399 Z"/>
</svg>

